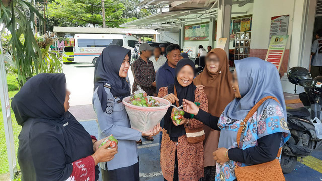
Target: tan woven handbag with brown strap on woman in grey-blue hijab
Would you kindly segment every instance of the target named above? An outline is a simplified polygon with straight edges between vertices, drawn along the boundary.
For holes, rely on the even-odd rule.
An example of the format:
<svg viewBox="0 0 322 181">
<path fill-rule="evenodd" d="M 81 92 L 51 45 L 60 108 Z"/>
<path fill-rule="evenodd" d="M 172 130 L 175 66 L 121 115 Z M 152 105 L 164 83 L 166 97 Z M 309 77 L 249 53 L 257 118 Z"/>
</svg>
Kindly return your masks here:
<svg viewBox="0 0 322 181">
<path fill-rule="evenodd" d="M 262 98 L 255 106 L 248 112 L 245 119 L 240 123 L 240 128 L 237 133 L 237 144 L 238 148 L 240 144 L 243 144 L 243 140 L 240 140 L 241 133 L 246 128 L 247 120 L 253 116 L 253 114 L 257 111 L 258 107 L 264 103 L 267 99 L 274 99 L 279 102 L 273 96 L 267 96 Z M 239 141 L 240 140 L 240 141 Z M 277 153 L 277 157 L 281 155 L 280 148 Z M 248 181 L 248 180 L 261 180 L 261 181 L 285 181 L 282 168 L 278 159 L 274 159 L 273 161 L 269 161 L 262 164 L 252 165 L 252 166 L 244 166 L 240 167 L 236 164 L 235 174 L 238 181 Z"/>
</svg>

